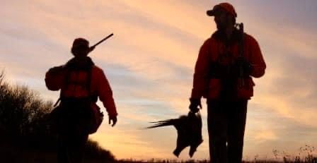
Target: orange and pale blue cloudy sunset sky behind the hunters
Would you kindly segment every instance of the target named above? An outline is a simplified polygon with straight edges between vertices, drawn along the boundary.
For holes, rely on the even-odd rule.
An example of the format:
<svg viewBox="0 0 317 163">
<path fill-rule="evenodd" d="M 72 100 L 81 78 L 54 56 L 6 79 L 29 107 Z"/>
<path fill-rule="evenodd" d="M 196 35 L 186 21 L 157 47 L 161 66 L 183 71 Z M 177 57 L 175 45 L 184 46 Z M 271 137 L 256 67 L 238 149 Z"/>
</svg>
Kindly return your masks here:
<svg viewBox="0 0 317 163">
<path fill-rule="evenodd" d="M 105 117 L 90 138 L 118 159 L 173 159 L 174 128 L 141 128 L 188 113 L 197 54 L 216 29 L 206 11 L 220 2 L 2 0 L 0 68 L 8 82 L 28 85 L 55 101 L 59 92 L 45 87 L 48 68 L 71 58 L 76 37 L 93 44 L 113 32 L 90 56 L 113 88 L 118 122 L 112 128 Z M 267 64 L 265 76 L 255 79 L 248 105 L 244 158 L 317 147 L 317 1 L 229 2 L 237 22 L 258 40 Z M 202 103 L 204 143 L 194 159 L 209 158 Z M 187 148 L 180 159 L 188 158 Z"/>
</svg>

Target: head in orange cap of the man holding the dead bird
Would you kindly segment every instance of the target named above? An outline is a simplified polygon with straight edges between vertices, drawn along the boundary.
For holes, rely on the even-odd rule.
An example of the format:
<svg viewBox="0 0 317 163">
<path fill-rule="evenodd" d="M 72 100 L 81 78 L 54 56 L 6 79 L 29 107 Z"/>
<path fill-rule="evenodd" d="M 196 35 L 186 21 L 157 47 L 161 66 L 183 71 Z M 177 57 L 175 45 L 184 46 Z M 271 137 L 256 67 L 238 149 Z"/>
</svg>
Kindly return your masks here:
<svg viewBox="0 0 317 163">
<path fill-rule="evenodd" d="M 234 27 L 236 24 L 236 10 L 229 3 L 217 4 L 212 10 L 207 11 L 208 16 L 214 16 L 218 30 Z"/>
</svg>

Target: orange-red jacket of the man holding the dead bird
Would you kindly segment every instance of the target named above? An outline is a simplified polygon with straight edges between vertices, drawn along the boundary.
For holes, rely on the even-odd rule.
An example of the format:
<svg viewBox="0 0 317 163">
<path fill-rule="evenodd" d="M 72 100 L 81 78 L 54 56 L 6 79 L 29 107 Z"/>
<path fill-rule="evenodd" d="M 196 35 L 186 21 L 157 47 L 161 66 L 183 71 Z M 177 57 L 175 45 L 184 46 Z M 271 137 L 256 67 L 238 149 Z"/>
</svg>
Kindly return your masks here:
<svg viewBox="0 0 317 163">
<path fill-rule="evenodd" d="M 237 59 L 239 56 L 238 47 L 237 30 L 234 30 L 229 41 L 225 40 L 224 35 L 221 35 L 219 31 L 216 31 L 212 37 L 202 44 L 195 65 L 191 98 L 219 99 L 221 97 L 220 94 L 224 85 L 220 78 L 210 77 L 210 66 L 214 62 L 219 62 L 219 59 L 222 59 L 222 64 L 229 64 L 229 61 Z M 236 83 L 235 99 L 250 99 L 250 97 L 253 97 L 253 86 L 255 84 L 251 77 L 260 78 L 264 75 L 266 68 L 258 42 L 246 33 L 244 33 L 243 47 L 243 57 L 253 66 L 253 69 L 250 76 L 243 78 L 245 83 L 243 88 L 238 89 L 238 83 Z M 230 56 L 226 57 L 227 54 L 230 54 Z"/>
</svg>

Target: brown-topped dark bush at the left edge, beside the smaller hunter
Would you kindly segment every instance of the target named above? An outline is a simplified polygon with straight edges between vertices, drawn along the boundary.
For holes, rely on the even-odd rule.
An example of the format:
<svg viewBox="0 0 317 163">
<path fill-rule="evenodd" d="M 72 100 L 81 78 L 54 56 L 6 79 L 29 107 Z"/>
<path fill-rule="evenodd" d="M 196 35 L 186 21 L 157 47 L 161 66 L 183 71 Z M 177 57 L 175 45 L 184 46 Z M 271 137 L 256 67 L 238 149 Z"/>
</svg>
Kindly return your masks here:
<svg viewBox="0 0 317 163">
<path fill-rule="evenodd" d="M 52 109 L 52 102 L 45 102 L 26 86 L 11 86 L 0 75 L 0 129 L 2 136 L 16 143 L 30 135 L 46 138 L 45 116 Z"/>
</svg>

